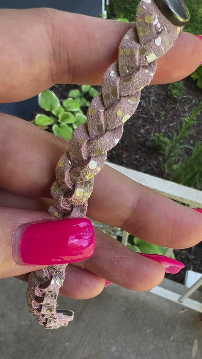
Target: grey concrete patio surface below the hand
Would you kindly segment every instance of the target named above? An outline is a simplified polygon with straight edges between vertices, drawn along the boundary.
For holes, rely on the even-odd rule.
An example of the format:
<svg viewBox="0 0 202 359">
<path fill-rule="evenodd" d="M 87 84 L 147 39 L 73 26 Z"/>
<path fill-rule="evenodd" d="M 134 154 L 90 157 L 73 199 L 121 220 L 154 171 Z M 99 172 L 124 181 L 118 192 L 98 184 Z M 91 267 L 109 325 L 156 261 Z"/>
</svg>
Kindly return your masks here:
<svg viewBox="0 0 202 359">
<path fill-rule="evenodd" d="M 185 291 L 168 279 L 161 286 Z M 26 307 L 26 288 L 0 279 L 0 359 L 202 359 L 202 314 L 181 304 L 111 284 L 89 300 L 60 297 L 75 319 L 46 330 Z M 202 302 L 202 292 L 193 299 Z"/>
</svg>

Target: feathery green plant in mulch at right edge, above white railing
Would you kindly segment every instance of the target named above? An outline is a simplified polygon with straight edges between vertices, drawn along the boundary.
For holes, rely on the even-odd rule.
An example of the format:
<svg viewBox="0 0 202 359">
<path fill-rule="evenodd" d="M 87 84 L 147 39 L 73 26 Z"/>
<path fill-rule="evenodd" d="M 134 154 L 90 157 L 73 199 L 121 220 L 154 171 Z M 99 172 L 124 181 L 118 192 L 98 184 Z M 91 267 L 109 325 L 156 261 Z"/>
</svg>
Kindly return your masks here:
<svg viewBox="0 0 202 359">
<path fill-rule="evenodd" d="M 168 139 L 168 137 L 164 136 L 162 133 L 157 133 L 150 139 L 149 145 L 152 148 L 158 149 L 161 154 L 161 156 L 159 156 L 161 166 L 170 176 L 169 179 L 176 180 L 178 178 L 179 183 L 182 183 L 182 180 L 185 180 L 183 179 L 183 176 L 185 178 L 193 178 L 194 174 L 193 176 L 191 176 L 191 172 L 194 172 L 196 174 L 198 170 L 201 173 L 201 169 L 199 168 L 201 162 L 198 161 L 198 169 L 194 169 L 194 165 L 196 165 L 197 163 L 196 159 L 200 159 L 200 151 L 202 144 L 200 143 L 198 145 L 195 145 L 194 149 L 192 149 L 192 147 L 187 145 L 187 143 L 185 142 L 185 138 L 194 132 L 194 130 L 191 129 L 191 126 L 196 123 L 195 117 L 199 113 L 201 108 L 202 102 L 196 110 L 193 110 L 191 116 L 182 119 L 181 125 L 178 124 L 178 134 L 174 133 L 172 139 Z M 183 162 L 182 155 L 185 148 L 191 148 L 192 154 L 189 160 L 186 159 L 185 162 Z M 189 176 L 187 173 L 183 174 L 182 172 L 183 169 L 184 171 L 187 171 L 188 166 Z M 199 183 L 198 179 L 196 183 Z M 193 186 L 193 182 L 191 185 L 191 181 L 190 186 Z"/>
</svg>

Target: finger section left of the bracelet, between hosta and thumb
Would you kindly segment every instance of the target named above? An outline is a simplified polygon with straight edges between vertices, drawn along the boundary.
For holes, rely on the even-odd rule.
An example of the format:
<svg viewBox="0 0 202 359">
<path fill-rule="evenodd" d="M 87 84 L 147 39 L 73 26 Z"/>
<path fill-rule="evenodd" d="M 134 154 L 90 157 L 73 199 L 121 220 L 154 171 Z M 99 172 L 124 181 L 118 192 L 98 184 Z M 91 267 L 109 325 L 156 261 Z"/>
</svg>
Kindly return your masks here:
<svg viewBox="0 0 202 359">
<path fill-rule="evenodd" d="M 56 163 L 67 149 L 65 139 L 0 114 L 0 187 L 23 196 L 49 196 Z"/>
</svg>

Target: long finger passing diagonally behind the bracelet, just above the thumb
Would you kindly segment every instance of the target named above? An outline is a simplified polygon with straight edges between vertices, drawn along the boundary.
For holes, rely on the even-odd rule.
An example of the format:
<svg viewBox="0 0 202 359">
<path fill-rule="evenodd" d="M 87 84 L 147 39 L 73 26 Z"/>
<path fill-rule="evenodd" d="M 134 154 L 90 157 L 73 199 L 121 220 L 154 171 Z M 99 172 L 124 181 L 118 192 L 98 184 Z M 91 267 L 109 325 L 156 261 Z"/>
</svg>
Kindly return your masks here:
<svg viewBox="0 0 202 359">
<path fill-rule="evenodd" d="M 1 127 L 0 137 L 1 133 L 4 136 L 0 141 L 0 166 L 4 171 L 0 173 L 0 187 L 26 196 L 49 196 L 55 165 L 66 151 L 67 142 L 62 144 L 56 136 L 12 116 L 7 116 L 6 123 L 2 120 Z M 121 227 L 144 241 L 172 248 L 190 247 L 202 239 L 201 213 L 107 166 L 95 177 L 88 216 Z"/>
</svg>

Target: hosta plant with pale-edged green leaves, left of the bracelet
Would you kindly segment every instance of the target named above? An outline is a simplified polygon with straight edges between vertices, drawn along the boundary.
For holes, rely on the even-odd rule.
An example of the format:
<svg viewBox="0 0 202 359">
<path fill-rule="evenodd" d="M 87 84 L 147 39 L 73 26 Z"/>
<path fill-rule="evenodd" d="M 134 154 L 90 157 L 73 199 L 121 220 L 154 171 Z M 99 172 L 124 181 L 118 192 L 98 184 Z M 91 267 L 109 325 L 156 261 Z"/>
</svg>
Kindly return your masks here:
<svg viewBox="0 0 202 359">
<path fill-rule="evenodd" d="M 70 140 L 72 132 L 86 121 L 84 111 L 97 94 L 94 87 L 82 85 L 71 90 L 69 97 L 61 104 L 52 91 L 45 90 L 38 95 L 38 104 L 49 114 L 37 114 L 33 123 Z"/>
</svg>

